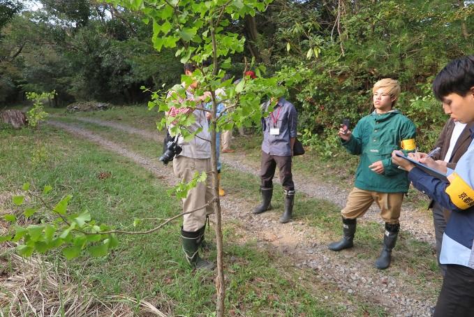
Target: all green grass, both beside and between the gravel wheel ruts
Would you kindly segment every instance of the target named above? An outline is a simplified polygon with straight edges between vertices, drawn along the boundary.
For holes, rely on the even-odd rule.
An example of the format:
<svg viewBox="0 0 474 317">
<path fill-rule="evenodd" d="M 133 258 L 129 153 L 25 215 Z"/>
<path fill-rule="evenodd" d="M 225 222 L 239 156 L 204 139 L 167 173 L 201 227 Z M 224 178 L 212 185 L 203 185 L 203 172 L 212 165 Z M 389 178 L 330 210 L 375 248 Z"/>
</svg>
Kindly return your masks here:
<svg viewBox="0 0 474 317">
<path fill-rule="evenodd" d="M 114 120 L 137 128 L 154 131 L 156 115 L 143 107 L 115 108 L 104 112 L 66 114 L 54 110 L 55 120 L 74 122 L 97 135 L 117 142 L 130 151 L 150 159 L 160 154 L 161 145 L 142 140 L 136 135 L 104 128 L 96 124 L 75 121 L 76 116 Z M 246 157 L 258 161 L 252 153 L 258 148 L 258 138 L 237 138 L 236 146 Z M 39 131 L 29 128 L 14 131 L 0 126 L 0 194 L 13 196 L 24 182 L 36 189 L 46 184 L 54 186 L 52 198 L 59 200 L 73 195 L 71 212 L 89 209 L 94 219 L 117 228 L 133 230 L 133 219 L 144 218 L 139 229 L 153 228 L 161 219 L 180 211 L 175 198 L 151 172 L 92 144 L 49 126 Z M 311 152 L 310 152 L 311 155 Z M 342 154 L 341 154 L 342 155 Z M 311 156 L 313 157 L 313 156 Z M 299 160 L 295 170 L 310 169 L 325 177 L 314 160 Z M 339 162 L 339 161 L 338 161 Z M 342 164 L 343 160 L 338 164 Z M 352 161 L 347 165 L 355 166 Z M 341 165 L 342 166 L 342 165 Z M 232 189 L 237 199 L 250 204 L 258 202 L 258 179 L 244 172 L 224 167 L 223 186 Z M 350 183 L 350 168 L 335 175 L 335 182 Z M 106 172 L 110 177 L 101 179 Z M 348 185 L 349 186 L 349 185 Z M 281 209 L 281 191 L 275 191 L 275 207 Z M 2 202 L 2 200 L 0 200 Z M 15 209 L 8 200 L 0 204 L 0 213 Z M 320 242 L 339 237 L 340 217 L 337 207 L 325 200 L 298 196 L 295 221 L 302 221 L 317 233 Z M 3 226 L 8 226 L 2 223 Z M 136 300 L 153 302 L 171 316 L 213 316 L 215 309 L 214 277 L 211 273 L 189 270 L 179 241 L 180 221 L 152 235 L 119 237 L 119 248 L 103 258 L 82 256 L 66 263 L 73 283 L 87 285 L 87 292 L 98 298 L 126 295 Z M 212 239 L 213 230 L 207 233 Z M 378 223 L 358 227 L 357 260 L 362 267 L 371 267 L 378 256 L 383 233 Z M 239 243 L 235 243 L 239 242 Z M 231 316 L 385 316 L 383 307 L 363 296 L 349 294 L 335 283 L 321 281 L 316 272 L 295 267 L 292 258 L 273 246 L 262 247 L 251 237 L 242 237 L 238 223 L 224 227 L 224 262 L 227 281 L 226 309 Z M 11 247 L 2 246 L 0 262 L 10 263 Z M 214 251 L 206 253 L 215 259 Z M 341 260 L 346 255 L 341 253 Z M 390 276 L 397 277 L 416 296 L 436 298 L 440 276 L 431 246 L 418 242 L 407 233 L 394 251 L 396 262 Z M 57 263 L 59 253 L 49 253 L 47 260 Z M 376 270 L 373 270 L 374 274 Z M 14 274 L 13 265 L 3 272 Z M 429 286 L 429 287 L 427 287 Z M 1 293 L 7 293 L 0 289 Z M 1 297 L 0 297 L 1 299 Z M 10 307 L 5 307 L 6 312 Z M 131 304 L 132 314 L 141 314 L 138 305 Z"/>
</svg>

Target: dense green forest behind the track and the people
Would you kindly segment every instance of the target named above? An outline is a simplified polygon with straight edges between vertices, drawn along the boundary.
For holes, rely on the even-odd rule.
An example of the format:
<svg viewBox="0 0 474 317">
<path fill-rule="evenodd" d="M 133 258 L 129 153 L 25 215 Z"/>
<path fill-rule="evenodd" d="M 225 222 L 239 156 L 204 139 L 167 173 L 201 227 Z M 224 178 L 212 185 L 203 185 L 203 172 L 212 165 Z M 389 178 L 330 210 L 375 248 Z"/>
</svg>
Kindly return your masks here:
<svg viewBox="0 0 474 317">
<path fill-rule="evenodd" d="M 244 1 L 243 1 L 244 3 Z M 32 9 L 34 8 L 34 9 Z M 228 30 L 246 38 L 230 73 L 242 77 L 244 57 L 269 76 L 304 68 L 290 90 L 306 145 L 329 157 L 334 129 L 371 111 L 371 87 L 397 78 L 397 107 L 418 127 L 418 143 L 434 143 L 446 117 L 431 80 L 447 61 L 473 54 L 474 1 L 273 1 Z M 153 25 L 140 13 L 91 0 L 0 0 L 0 107 L 27 91 L 56 91 L 54 107 L 74 101 L 146 103 L 149 92 L 180 80 L 172 49 L 155 50 Z"/>
</svg>

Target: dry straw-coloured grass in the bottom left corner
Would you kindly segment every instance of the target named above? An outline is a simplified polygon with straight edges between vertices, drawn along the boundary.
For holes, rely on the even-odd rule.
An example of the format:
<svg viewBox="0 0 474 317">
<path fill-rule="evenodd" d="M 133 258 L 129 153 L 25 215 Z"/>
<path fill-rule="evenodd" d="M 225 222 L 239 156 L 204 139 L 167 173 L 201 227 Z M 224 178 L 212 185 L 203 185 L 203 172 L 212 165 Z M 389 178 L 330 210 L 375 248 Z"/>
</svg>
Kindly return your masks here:
<svg viewBox="0 0 474 317">
<path fill-rule="evenodd" d="M 1 193 L 0 211 L 6 213 L 11 196 Z M 9 196 L 9 197 L 8 197 Z M 10 209 L 11 212 L 11 209 Z M 22 223 L 27 224 L 27 223 Z M 0 235 L 9 223 L 0 220 Z M 24 259 L 15 253 L 16 244 L 0 245 L 0 316 L 170 316 L 172 304 L 155 297 L 151 302 L 128 295 L 99 298 L 87 282 L 78 282 L 62 260 L 49 256 Z M 60 257 L 58 257 L 60 259 Z M 77 274 L 80 276 L 80 274 Z M 156 308 L 159 307 L 164 311 Z"/>
</svg>

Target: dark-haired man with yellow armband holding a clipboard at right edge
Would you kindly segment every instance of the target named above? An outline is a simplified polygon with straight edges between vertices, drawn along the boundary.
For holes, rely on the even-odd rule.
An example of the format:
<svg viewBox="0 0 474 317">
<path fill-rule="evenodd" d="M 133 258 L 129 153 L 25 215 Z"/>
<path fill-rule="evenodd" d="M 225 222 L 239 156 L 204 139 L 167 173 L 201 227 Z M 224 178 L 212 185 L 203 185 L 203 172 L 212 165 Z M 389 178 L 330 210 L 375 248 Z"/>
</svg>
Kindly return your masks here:
<svg viewBox="0 0 474 317">
<path fill-rule="evenodd" d="M 452 118 L 474 121 L 474 55 L 451 61 L 433 82 L 434 95 Z M 471 139 L 474 129 L 471 128 Z M 474 142 L 451 170 L 423 154 L 415 160 L 447 174 L 445 182 L 392 153 L 392 161 L 408 170 L 413 186 L 452 211 L 443 235 L 440 263 L 446 265 L 435 317 L 474 316 Z"/>
</svg>

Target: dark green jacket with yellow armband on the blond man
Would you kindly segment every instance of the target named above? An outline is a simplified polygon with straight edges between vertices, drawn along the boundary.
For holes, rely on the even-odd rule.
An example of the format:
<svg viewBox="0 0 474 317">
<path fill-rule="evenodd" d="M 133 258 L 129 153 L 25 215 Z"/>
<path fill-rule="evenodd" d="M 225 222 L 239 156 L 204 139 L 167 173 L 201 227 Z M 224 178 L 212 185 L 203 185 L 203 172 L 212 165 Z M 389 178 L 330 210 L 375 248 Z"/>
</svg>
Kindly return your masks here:
<svg viewBox="0 0 474 317">
<path fill-rule="evenodd" d="M 415 151 L 415 135 L 415 124 L 399 110 L 381 115 L 374 111 L 360 119 L 350 139 L 342 142 L 350 154 L 360 156 L 354 186 L 380 193 L 406 193 L 410 184 L 407 172 L 392 163 L 392 152 L 394 149 L 405 153 Z M 376 161 L 383 162 L 382 174 L 369 168 Z"/>
</svg>

